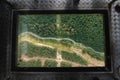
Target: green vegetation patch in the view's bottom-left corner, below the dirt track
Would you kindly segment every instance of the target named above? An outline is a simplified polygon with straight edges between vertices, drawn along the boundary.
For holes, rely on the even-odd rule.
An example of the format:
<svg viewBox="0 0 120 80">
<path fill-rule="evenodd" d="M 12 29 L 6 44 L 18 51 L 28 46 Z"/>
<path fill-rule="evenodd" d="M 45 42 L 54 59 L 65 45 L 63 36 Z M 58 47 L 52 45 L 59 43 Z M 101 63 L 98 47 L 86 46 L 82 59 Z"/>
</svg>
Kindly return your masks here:
<svg viewBox="0 0 120 80">
<path fill-rule="evenodd" d="M 28 62 L 24 62 L 24 61 L 18 61 L 17 64 L 18 67 L 41 67 L 41 62 L 32 60 L 32 61 L 28 61 Z"/>
</svg>

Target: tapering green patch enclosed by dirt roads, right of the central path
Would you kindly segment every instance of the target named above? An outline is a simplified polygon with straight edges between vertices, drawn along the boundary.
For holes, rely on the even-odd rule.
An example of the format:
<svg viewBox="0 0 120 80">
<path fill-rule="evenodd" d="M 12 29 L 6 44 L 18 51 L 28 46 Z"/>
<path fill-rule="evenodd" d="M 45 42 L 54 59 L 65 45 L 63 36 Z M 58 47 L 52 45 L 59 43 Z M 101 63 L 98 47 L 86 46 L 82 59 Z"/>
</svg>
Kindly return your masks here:
<svg viewBox="0 0 120 80">
<path fill-rule="evenodd" d="M 88 64 L 88 62 L 85 59 L 83 59 L 81 56 L 78 56 L 76 53 L 69 53 L 69 52 L 62 51 L 61 54 L 62 54 L 62 58 L 65 60 L 70 60 L 83 65 Z"/>
</svg>

